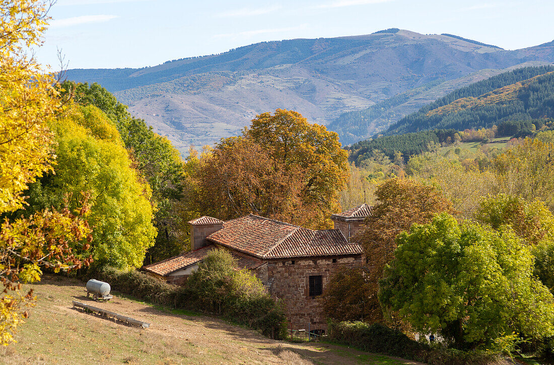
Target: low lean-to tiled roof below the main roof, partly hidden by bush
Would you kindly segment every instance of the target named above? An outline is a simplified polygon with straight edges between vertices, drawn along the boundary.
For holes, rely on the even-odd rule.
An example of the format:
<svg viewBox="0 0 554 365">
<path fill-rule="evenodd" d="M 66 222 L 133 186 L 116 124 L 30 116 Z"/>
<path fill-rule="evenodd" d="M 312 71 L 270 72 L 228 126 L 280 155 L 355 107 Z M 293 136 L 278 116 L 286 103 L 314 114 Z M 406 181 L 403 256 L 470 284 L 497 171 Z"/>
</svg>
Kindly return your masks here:
<svg viewBox="0 0 554 365">
<path fill-rule="evenodd" d="M 209 251 L 214 248 L 216 248 L 216 245 L 207 245 L 199 248 L 198 250 L 190 251 L 163 261 L 158 261 L 154 264 L 142 266 L 142 269 L 150 271 L 154 274 L 166 276 L 168 274 L 175 273 L 175 271 L 182 270 L 188 266 L 199 263 L 206 257 Z M 233 256 L 233 259 L 237 260 L 237 269 L 253 269 L 263 264 L 263 261 L 238 251 L 230 251 L 230 253 Z"/>
</svg>

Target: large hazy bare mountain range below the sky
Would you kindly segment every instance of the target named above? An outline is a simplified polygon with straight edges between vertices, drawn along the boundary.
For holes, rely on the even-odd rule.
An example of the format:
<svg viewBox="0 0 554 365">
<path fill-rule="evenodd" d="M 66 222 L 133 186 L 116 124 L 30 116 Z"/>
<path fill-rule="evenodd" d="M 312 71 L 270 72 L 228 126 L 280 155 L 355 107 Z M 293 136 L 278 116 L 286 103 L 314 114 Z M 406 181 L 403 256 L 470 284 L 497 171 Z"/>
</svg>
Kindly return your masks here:
<svg viewBox="0 0 554 365">
<path fill-rule="evenodd" d="M 508 51 L 453 35 L 392 28 L 355 37 L 263 42 L 150 68 L 75 69 L 67 75 L 114 92 L 134 115 L 185 151 L 238 133 L 256 114 L 276 108 L 329 124 L 345 112 L 373 106 L 369 120 L 330 124 L 350 143 L 460 86 L 517 65 L 553 61 L 553 42 Z"/>
</svg>

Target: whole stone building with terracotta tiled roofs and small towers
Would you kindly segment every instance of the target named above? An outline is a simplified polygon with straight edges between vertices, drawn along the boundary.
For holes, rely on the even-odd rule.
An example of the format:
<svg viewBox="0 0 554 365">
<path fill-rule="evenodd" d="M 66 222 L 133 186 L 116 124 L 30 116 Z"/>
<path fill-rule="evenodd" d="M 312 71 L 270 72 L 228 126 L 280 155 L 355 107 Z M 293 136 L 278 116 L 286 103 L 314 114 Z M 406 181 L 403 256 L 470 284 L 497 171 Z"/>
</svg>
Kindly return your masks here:
<svg viewBox="0 0 554 365">
<path fill-rule="evenodd" d="M 209 250 L 229 250 L 240 268 L 249 269 L 284 301 L 288 320 L 325 330 L 325 316 L 317 297 L 341 266 L 361 264 L 363 252 L 349 238 L 360 229 L 367 204 L 333 214 L 335 229 L 311 230 L 249 214 L 223 222 L 212 217 L 191 220 L 192 251 L 143 266 L 143 270 L 173 284 L 181 284 Z"/>
</svg>

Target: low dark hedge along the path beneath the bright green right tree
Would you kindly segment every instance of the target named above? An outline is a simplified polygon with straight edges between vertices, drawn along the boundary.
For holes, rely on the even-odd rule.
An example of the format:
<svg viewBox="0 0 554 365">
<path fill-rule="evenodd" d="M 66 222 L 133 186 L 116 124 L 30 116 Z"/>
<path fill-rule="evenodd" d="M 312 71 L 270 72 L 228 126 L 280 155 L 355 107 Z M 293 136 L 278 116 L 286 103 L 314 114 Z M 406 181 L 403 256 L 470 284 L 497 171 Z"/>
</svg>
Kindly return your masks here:
<svg viewBox="0 0 554 365">
<path fill-rule="evenodd" d="M 362 351 L 422 361 L 431 365 L 480 365 L 498 361 L 494 354 L 465 352 L 417 342 L 400 331 L 378 323 L 370 325 L 365 322 L 330 322 L 328 329 L 331 341 Z"/>
</svg>

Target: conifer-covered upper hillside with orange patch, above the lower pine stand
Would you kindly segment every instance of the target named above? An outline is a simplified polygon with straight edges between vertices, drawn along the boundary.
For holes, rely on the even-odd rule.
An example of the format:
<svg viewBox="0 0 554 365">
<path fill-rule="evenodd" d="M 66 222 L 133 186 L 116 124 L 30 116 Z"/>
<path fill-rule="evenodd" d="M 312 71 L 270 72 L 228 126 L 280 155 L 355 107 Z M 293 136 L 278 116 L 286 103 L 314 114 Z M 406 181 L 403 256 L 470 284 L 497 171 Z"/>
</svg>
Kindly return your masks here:
<svg viewBox="0 0 554 365">
<path fill-rule="evenodd" d="M 441 97 L 391 125 L 397 135 L 434 128 L 491 127 L 504 121 L 554 117 L 554 66 L 522 68 Z"/>
</svg>

